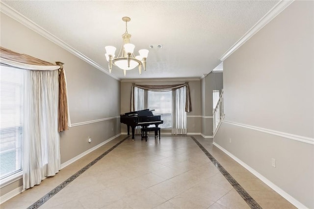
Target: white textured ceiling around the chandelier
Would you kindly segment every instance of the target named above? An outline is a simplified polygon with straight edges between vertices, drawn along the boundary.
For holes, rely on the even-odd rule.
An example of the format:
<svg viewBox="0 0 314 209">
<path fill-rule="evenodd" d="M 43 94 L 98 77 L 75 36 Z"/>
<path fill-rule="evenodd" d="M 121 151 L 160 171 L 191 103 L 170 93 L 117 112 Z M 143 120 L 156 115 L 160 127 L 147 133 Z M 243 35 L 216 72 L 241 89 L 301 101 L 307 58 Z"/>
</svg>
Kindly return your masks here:
<svg viewBox="0 0 314 209">
<path fill-rule="evenodd" d="M 84 54 L 104 69 L 105 46 L 122 45 L 122 17 L 131 17 L 128 32 L 134 53 L 148 49 L 147 70 L 123 71 L 117 78 L 200 78 L 208 74 L 277 0 L 1 0 L 27 19 Z M 149 49 L 150 45 L 162 49 Z"/>
</svg>

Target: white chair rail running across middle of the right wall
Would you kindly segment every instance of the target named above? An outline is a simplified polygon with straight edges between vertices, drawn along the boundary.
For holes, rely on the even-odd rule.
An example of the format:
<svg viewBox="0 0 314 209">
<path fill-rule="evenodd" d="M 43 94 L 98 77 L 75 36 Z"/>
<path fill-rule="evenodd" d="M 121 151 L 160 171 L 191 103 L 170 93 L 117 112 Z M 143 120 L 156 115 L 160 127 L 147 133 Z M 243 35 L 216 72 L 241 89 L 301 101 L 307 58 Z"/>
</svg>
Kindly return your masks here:
<svg viewBox="0 0 314 209">
<path fill-rule="evenodd" d="M 270 133 L 272 135 L 276 135 L 276 136 L 281 136 L 284 138 L 288 138 L 288 139 L 292 139 L 292 140 L 296 140 L 296 141 L 301 141 L 304 143 L 308 143 L 308 144 L 313 144 L 314 145 L 314 138 L 310 138 L 310 137 L 306 137 L 306 136 L 300 136 L 300 135 L 295 135 L 295 134 L 291 134 L 291 133 L 286 133 L 286 132 L 281 132 L 281 131 L 275 131 L 275 130 L 271 130 L 271 129 L 264 129 L 261 127 L 256 127 L 256 126 L 249 126 L 249 125 L 245 125 L 245 124 L 239 124 L 239 123 L 235 123 L 235 122 L 231 122 L 231 121 L 222 121 L 223 123 L 227 123 L 227 124 L 232 124 L 235 126 L 239 126 L 239 127 L 243 127 L 246 129 L 252 129 L 255 131 L 261 131 L 264 133 Z"/>
</svg>

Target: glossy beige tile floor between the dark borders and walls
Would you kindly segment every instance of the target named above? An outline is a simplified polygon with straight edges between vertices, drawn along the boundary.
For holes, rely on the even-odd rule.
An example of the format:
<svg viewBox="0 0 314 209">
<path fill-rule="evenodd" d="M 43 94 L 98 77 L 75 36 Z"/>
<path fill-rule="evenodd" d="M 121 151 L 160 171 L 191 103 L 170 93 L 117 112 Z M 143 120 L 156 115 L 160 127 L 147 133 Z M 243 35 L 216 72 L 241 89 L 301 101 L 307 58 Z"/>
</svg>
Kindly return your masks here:
<svg viewBox="0 0 314 209">
<path fill-rule="evenodd" d="M 62 169 L 56 176 L 0 205 L 25 209 L 101 156 L 122 135 Z M 212 145 L 192 136 L 263 209 L 295 208 L 253 174 Z M 126 139 L 71 180 L 41 209 L 246 209 L 250 206 L 190 136 Z M 71 177 L 72 178 L 72 177 Z"/>
</svg>

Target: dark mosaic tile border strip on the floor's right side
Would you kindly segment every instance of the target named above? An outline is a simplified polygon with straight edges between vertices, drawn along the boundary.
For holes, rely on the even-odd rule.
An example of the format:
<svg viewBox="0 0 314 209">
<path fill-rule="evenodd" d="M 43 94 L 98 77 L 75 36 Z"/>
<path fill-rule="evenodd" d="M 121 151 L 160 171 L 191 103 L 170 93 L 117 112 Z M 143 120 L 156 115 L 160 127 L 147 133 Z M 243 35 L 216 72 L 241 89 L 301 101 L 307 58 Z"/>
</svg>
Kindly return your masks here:
<svg viewBox="0 0 314 209">
<path fill-rule="evenodd" d="M 201 148 L 205 155 L 210 159 L 210 161 L 218 168 L 220 173 L 228 180 L 228 182 L 235 188 L 235 191 L 243 198 L 243 200 L 252 208 L 252 209 L 262 209 L 262 207 L 243 189 L 243 187 L 235 181 L 235 179 L 226 171 L 222 165 L 212 156 L 210 153 L 197 141 L 193 136 L 190 136 L 193 141 Z"/>
</svg>

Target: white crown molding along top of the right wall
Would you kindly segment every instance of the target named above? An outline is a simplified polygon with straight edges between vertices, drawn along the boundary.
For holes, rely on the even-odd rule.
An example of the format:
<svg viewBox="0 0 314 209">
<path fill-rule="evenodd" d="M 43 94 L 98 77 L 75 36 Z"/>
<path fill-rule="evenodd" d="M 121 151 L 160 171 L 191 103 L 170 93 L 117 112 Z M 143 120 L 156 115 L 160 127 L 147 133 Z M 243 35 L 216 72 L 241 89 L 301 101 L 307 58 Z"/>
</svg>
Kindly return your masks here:
<svg viewBox="0 0 314 209">
<path fill-rule="evenodd" d="M 235 52 L 240 46 L 242 46 L 247 40 L 249 40 L 255 33 L 257 33 L 262 27 L 266 26 L 273 18 L 280 14 L 290 3 L 294 0 L 281 0 L 271 10 L 269 10 L 259 22 L 257 22 L 249 31 L 247 31 L 235 44 L 225 52 L 220 61 L 224 61 L 228 56 Z"/>
</svg>

